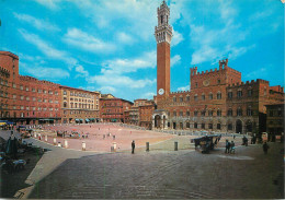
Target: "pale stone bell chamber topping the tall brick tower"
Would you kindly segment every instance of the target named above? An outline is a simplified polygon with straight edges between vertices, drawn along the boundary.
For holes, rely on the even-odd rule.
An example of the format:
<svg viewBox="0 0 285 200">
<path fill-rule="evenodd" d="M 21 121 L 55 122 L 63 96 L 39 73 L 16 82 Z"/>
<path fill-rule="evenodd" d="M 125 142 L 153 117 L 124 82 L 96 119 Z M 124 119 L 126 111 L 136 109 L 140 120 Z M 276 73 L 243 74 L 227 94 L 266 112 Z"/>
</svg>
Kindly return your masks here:
<svg viewBox="0 0 285 200">
<path fill-rule="evenodd" d="M 172 38 L 172 26 L 169 25 L 170 9 L 166 1 L 158 8 L 158 26 L 155 28 L 155 35 L 157 43 L 171 43 Z"/>
</svg>

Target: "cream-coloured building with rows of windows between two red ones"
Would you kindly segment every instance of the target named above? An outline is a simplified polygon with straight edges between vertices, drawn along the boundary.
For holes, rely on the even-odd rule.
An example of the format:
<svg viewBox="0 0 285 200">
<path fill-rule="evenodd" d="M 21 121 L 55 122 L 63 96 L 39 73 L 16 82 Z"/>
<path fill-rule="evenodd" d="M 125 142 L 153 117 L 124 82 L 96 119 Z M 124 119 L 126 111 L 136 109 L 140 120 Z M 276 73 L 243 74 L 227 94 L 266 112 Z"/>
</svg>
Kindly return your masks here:
<svg viewBox="0 0 285 200">
<path fill-rule="evenodd" d="M 61 122 L 99 122 L 99 92 L 90 92 L 69 86 L 59 86 L 61 94 Z"/>
</svg>

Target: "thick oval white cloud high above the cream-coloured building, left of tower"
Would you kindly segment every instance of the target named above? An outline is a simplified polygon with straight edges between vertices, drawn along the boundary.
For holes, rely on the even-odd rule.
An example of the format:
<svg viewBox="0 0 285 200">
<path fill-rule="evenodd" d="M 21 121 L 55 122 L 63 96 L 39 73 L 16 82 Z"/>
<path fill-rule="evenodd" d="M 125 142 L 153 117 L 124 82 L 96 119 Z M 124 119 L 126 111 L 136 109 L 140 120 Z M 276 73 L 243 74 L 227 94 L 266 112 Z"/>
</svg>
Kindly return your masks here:
<svg viewBox="0 0 285 200">
<path fill-rule="evenodd" d="M 113 44 L 102 42 L 86 32 L 78 28 L 68 28 L 67 34 L 64 36 L 62 40 L 69 45 L 76 46 L 80 49 L 90 52 L 111 52 L 116 49 Z"/>
</svg>

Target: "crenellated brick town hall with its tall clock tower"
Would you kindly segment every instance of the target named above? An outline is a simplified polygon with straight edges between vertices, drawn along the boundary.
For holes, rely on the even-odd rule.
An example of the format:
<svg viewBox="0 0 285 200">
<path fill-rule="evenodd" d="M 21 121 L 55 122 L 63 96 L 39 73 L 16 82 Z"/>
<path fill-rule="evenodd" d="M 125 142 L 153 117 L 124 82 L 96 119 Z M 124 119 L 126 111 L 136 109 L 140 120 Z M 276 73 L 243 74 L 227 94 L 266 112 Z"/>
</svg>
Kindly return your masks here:
<svg viewBox="0 0 285 200">
<path fill-rule="evenodd" d="M 152 128 L 191 129 L 220 132 L 261 132 L 266 130 L 267 104 L 284 103 L 281 86 L 264 80 L 241 82 L 241 72 L 219 61 L 218 69 L 197 71 L 191 68 L 191 90 L 170 91 L 170 10 L 162 2 L 158 8 L 157 40 L 157 109 Z"/>
</svg>

